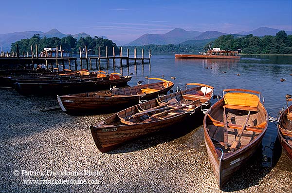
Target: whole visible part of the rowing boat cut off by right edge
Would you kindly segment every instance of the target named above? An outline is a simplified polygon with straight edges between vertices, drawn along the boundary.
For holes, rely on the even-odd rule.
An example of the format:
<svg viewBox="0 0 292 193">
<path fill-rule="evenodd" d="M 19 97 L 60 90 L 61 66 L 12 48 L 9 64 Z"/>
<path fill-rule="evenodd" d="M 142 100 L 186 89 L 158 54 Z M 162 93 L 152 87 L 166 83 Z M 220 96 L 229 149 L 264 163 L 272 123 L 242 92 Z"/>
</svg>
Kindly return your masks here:
<svg viewBox="0 0 292 193">
<path fill-rule="evenodd" d="M 292 98 L 287 98 L 287 109 L 282 111 L 279 117 L 278 137 L 283 149 L 292 160 L 292 105 L 288 107 L 289 101 L 292 101 Z"/>
</svg>

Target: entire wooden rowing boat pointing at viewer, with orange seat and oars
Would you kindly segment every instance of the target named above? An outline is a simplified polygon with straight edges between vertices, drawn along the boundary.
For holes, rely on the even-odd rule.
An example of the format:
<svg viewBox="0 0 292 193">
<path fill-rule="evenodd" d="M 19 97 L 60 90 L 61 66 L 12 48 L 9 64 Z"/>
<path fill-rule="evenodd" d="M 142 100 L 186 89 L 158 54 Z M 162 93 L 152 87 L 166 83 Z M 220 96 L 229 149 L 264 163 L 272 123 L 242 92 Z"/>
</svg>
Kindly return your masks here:
<svg viewBox="0 0 292 193">
<path fill-rule="evenodd" d="M 220 189 L 261 144 L 269 120 L 261 97 L 252 90 L 223 90 L 204 117 L 205 145 Z"/>
</svg>

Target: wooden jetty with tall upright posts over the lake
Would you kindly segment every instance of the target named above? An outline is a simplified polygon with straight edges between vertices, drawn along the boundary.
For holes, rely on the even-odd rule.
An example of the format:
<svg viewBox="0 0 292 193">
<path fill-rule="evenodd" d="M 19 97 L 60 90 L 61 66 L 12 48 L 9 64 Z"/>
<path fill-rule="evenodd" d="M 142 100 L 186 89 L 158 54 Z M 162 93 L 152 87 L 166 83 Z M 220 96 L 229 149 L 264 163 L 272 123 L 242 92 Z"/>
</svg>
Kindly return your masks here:
<svg viewBox="0 0 292 193">
<path fill-rule="evenodd" d="M 28 68 L 35 69 L 38 67 L 39 64 L 45 64 L 46 68 L 54 68 L 54 64 L 56 68 L 59 68 L 59 65 L 61 63 L 62 68 L 65 69 L 65 62 L 68 62 L 69 69 L 71 70 L 72 64 L 74 65 L 75 70 L 77 70 L 77 59 L 76 57 L 72 57 L 72 54 L 68 55 L 68 52 L 65 52 L 62 50 L 62 46 L 59 47 L 56 46 L 56 48 L 53 48 L 55 53 L 52 54 L 38 54 L 37 53 L 37 45 L 36 50 L 34 52 L 33 46 L 31 46 L 31 53 L 30 55 L 23 52 L 23 55 L 19 55 L 18 51 L 18 45 L 17 45 L 17 52 L 11 51 L 9 52 L 3 52 L 0 53 L 0 68 L 11 68 L 12 65 L 29 65 Z M 123 56 L 123 47 L 120 47 L 120 54 L 119 56 L 116 56 L 114 53 L 114 47 L 112 47 L 113 50 L 113 56 L 108 55 L 108 46 L 106 47 L 106 56 L 101 56 L 100 47 L 98 47 L 98 56 L 88 56 L 88 49 L 87 46 L 85 46 L 85 57 L 82 55 L 81 47 L 79 47 L 79 60 L 80 60 L 80 69 L 87 69 L 92 70 L 92 61 L 96 61 L 96 70 L 101 68 L 101 60 L 106 60 L 107 67 L 110 67 L 110 60 L 112 60 L 113 67 L 116 66 L 116 59 L 120 60 L 120 67 L 123 66 L 123 60 L 126 60 L 127 66 L 129 65 L 129 61 L 134 61 L 134 64 L 136 65 L 137 62 L 141 61 L 142 63 L 145 62 L 145 60 L 148 60 L 150 63 L 151 61 L 151 50 L 149 50 L 149 58 L 144 57 L 144 50 L 142 49 L 142 55 L 141 58 L 137 57 L 137 49 L 134 49 L 134 57 L 131 58 L 129 56 L 129 49 L 127 49 L 127 56 Z M 65 52 L 65 55 L 64 55 Z M 84 61 L 85 60 L 85 61 Z M 86 62 L 86 66 L 84 64 Z"/>
</svg>

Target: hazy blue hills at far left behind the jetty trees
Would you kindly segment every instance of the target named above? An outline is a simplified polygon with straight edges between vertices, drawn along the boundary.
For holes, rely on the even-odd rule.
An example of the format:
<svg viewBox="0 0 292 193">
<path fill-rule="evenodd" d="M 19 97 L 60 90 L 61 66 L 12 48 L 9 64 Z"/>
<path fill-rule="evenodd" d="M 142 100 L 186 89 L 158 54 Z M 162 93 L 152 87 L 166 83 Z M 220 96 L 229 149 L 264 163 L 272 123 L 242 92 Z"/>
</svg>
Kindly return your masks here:
<svg viewBox="0 0 292 193">
<path fill-rule="evenodd" d="M 46 36 L 47 38 L 64 38 L 68 36 L 67 34 L 63 34 L 59 32 L 57 29 L 52 29 L 48 32 L 41 32 L 41 31 L 26 31 L 26 32 L 14 32 L 9 34 L 0 34 L 0 43 L 2 44 L 2 50 L 3 51 L 10 51 L 11 49 L 11 43 L 14 43 L 20 39 L 30 39 L 35 34 L 39 34 L 40 37 Z M 77 40 L 81 37 L 87 37 L 90 36 L 84 32 L 72 35 L 73 38 L 76 38 Z"/>
</svg>

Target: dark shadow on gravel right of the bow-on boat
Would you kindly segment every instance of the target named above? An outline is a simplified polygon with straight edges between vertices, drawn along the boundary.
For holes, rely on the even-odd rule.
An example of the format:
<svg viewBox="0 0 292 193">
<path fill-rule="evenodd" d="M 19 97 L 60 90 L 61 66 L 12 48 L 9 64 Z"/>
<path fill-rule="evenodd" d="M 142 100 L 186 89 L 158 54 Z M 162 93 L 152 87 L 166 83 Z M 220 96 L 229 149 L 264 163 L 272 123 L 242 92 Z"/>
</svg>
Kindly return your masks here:
<svg viewBox="0 0 292 193">
<path fill-rule="evenodd" d="M 275 167 L 280 159 L 281 152 L 282 148 L 278 137 L 274 141 L 272 157 L 265 156 L 263 154 L 263 147 L 260 145 L 255 154 L 227 180 L 222 191 L 234 192 L 258 185 Z M 268 167 L 267 162 L 270 163 Z"/>
</svg>

